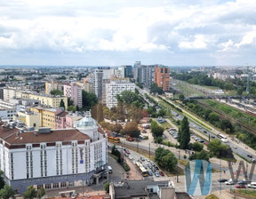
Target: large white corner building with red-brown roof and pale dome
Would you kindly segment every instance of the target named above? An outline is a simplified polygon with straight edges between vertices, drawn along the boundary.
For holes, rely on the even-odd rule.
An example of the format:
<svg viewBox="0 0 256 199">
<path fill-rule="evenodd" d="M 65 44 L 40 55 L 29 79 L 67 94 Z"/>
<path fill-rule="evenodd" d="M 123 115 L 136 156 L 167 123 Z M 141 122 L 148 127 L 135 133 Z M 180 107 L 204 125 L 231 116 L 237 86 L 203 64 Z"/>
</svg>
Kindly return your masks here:
<svg viewBox="0 0 256 199">
<path fill-rule="evenodd" d="M 36 189 L 86 186 L 106 174 L 107 136 L 92 117 L 68 130 L 20 131 L 8 123 L 0 125 L 0 169 L 20 193 L 30 185 Z"/>
</svg>

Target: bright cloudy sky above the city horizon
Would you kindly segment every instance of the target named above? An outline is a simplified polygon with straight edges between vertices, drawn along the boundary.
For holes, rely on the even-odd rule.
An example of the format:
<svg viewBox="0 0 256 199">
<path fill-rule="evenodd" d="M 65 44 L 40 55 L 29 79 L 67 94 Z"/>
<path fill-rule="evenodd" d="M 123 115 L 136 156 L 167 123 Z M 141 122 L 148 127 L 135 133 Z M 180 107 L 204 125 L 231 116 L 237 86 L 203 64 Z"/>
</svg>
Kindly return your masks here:
<svg viewBox="0 0 256 199">
<path fill-rule="evenodd" d="M 0 65 L 256 65 L 255 0 L 2 0 Z"/>
</svg>

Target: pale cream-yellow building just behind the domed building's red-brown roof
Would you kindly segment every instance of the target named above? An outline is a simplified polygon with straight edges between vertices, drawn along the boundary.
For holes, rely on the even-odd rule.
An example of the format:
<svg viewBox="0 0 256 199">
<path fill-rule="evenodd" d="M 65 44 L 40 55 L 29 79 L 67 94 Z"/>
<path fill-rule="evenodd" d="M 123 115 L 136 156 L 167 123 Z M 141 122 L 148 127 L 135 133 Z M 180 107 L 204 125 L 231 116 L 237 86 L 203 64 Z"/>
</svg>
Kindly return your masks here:
<svg viewBox="0 0 256 199">
<path fill-rule="evenodd" d="M 35 130 L 38 130 L 38 128 L 41 126 L 41 118 L 40 114 L 38 113 L 19 111 L 17 115 L 18 119 L 23 121 L 28 128 L 34 127 Z"/>
</svg>

